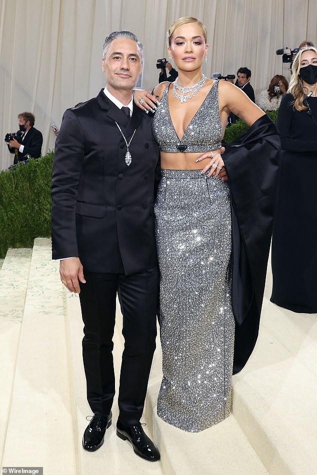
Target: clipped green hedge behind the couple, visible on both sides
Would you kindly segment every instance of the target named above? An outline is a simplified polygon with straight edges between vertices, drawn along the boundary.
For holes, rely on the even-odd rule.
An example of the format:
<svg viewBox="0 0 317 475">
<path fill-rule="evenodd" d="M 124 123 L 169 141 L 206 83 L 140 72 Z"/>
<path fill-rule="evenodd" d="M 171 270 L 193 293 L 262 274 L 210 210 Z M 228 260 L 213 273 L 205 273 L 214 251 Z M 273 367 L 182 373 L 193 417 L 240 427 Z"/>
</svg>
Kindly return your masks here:
<svg viewBox="0 0 317 475">
<path fill-rule="evenodd" d="M 275 122 L 277 112 L 268 115 Z M 248 127 L 237 120 L 224 140 L 235 140 Z M 50 182 L 53 152 L 0 172 L 0 258 L 9 247 L 32 247 L 36 237 L 50 236 Z"/>
</svg>

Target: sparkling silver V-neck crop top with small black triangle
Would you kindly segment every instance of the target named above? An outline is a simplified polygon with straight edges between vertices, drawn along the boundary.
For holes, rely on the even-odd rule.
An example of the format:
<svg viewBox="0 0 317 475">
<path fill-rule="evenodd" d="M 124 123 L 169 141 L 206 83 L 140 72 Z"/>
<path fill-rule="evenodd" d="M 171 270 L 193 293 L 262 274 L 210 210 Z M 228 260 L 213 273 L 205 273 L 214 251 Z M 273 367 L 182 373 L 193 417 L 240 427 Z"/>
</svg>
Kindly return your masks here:
<svg viewBox="0 0 317 475">
<path fill-rule="evenodd" d="M 223 136 L 218 105 L 218 81 L 214 81 L 206 98 L 189 122 L 182 139 L 179 140 L 168 109 L 167 84 L 160 105 L 154 114 L 152 132 L 159 150 L 165 153 L 203 153 L 218 150 Z"/>
</svg>

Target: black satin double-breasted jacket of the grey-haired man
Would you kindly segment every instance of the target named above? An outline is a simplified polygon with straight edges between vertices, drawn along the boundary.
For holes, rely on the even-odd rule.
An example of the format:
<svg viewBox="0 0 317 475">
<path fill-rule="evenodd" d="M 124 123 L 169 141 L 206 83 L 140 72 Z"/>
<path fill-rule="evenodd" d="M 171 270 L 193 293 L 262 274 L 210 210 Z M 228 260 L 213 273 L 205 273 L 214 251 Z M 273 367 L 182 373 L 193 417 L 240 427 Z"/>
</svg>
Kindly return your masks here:
<svg viewBox="0 0 317 475">
<path fill-rule="evenodd" d="M 52 256 L 79 256 L 84 270 L 131 275 L 156 265 L 153 201 L 159 152 L 151 117 L 123 112 L 104 94 L 65 111 L 52 174 Z M 125 164 L 126 144 L 132 162 Z M 123 119 L 124 121 L 124 119 Z"/>
</svg>

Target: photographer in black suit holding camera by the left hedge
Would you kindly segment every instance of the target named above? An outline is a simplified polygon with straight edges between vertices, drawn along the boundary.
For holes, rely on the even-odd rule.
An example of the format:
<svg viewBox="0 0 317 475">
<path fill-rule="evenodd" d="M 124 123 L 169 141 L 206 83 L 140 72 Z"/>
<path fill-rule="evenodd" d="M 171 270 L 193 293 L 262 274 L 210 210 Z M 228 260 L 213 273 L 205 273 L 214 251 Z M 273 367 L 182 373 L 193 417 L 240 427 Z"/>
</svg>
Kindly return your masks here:
<svg viewBox="0 0 317 475">
<path fill-rule="evenodd" d="M 31 112 L 22 112 L 17 118 L 19 141 L 14 138 L 7 144 L 9 152 L 14 153 L 13 165 L 30 157 L 38 158 L 43 143 L 42 134 L 34 127 L 35 117 Z"/>
</svg>

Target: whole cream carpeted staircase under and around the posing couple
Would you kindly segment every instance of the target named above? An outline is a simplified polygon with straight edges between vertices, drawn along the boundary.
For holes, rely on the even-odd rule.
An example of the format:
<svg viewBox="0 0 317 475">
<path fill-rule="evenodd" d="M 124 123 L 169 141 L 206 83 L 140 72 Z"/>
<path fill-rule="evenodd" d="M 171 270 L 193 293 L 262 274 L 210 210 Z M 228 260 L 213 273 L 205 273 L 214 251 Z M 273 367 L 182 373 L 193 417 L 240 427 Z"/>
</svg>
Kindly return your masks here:
<svg viewBox="0 0 317 475">
<path fill-rule="evenodd" d="M 117 403 L 104 445 L 85 452 L 91 415 L 85 397 L 79 299 L 62 286 L 50 241 L 9 250 L 0 270 L 0 459 L 3 467 L 43 467 L 44 475 L 317 474 L 317 315 L 268 301 L 255 351 L 233 378 L 232 415 L 198 434 L 155 412 L 161 379 L 157 339 L 142 422 L 161 453 L 146 462 L 115 435 Z M 117 311 L 118 380 L 123 339 Z"/>
</svg>

